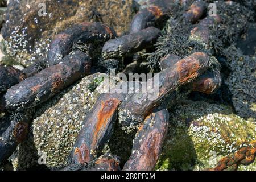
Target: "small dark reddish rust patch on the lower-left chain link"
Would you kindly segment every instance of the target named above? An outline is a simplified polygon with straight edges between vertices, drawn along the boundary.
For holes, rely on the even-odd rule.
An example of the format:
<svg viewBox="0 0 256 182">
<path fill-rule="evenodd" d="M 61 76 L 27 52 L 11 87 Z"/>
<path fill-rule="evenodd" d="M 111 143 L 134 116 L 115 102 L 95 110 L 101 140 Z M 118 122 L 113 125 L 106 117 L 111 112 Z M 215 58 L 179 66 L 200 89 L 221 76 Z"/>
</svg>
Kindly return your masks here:
<svg viewBox="0 0 256 182">
<path fill-rule="evenodd" d="M 27 136 L 28 123 L 18 122 L 16 123 L 13 131 L 13 136 L 16 142 L 20 143 Z"/>
</svg>

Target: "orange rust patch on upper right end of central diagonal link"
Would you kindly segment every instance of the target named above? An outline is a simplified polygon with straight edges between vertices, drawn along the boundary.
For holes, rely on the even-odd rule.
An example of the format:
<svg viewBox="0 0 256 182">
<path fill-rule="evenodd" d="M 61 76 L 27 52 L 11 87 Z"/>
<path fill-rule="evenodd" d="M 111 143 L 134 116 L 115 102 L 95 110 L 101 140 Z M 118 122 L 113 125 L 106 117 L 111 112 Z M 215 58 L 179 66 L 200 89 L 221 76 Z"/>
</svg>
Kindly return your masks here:
<svg viewBox="0 0 256 182">
<path fill-rule="evenodd" d="M 190 56 L 176 63 L 177 72 L 179 72 L 179 82 L 184 84 L 198 76 L 200 68 L 199 61 L 195 57 Z"/>
</svg>

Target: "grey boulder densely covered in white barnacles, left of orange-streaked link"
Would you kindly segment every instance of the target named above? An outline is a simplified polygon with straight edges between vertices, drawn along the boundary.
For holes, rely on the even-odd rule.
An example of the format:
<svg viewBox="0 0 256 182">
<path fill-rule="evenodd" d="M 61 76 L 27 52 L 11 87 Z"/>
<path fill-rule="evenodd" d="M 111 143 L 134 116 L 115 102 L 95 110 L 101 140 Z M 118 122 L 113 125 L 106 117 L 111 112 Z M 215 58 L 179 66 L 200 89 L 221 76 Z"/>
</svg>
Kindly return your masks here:
<svg viewBox="0 0 256 182">
<path fill-rule="evenodd" d="M 82 122 L 98 95 L 104 92 L 106 80 L 100 73 L 86 76 L 41 105 L 36 111 L 28 139 L 10 158 L 14 169 L 38 164 L 45 164 L 51 169 L 65 166 Z"/>
</svg>

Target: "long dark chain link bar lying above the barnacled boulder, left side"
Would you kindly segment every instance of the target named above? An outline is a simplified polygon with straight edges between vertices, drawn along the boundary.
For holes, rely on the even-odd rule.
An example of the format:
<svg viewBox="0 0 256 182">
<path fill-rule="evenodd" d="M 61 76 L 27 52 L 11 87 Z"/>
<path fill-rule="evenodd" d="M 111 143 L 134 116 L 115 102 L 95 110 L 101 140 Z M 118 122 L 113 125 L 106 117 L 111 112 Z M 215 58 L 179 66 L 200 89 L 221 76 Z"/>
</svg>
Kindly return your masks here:
<svg viewBox="0 0 256 182">
<path fill-rule="evenodd" d="M 8 89 L 4 96 L 5 109 L 35 107 L 90 73 L 91 61 L 85 53 L 73 52 L 64 60 L 68 61 L 43 69 Z"/>
</svg>

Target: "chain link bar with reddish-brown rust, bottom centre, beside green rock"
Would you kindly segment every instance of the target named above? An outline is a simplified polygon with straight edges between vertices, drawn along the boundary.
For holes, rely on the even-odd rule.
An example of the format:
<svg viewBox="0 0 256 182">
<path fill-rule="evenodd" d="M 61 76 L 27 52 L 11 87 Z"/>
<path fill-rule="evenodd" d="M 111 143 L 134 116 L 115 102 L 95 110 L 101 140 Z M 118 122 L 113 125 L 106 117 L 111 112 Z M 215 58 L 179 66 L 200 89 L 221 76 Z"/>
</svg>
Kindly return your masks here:
<svg viewBox="0 0 256 182">
<path fill-rule="evenodd" d="M 154 110 L 134 139 L 133 150 L 123 170 L 150 171 L 155 168 L 167 134 L 169 113 L 166 109 Z"/>
</svg>

